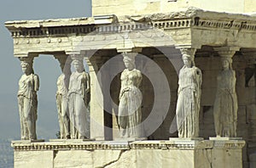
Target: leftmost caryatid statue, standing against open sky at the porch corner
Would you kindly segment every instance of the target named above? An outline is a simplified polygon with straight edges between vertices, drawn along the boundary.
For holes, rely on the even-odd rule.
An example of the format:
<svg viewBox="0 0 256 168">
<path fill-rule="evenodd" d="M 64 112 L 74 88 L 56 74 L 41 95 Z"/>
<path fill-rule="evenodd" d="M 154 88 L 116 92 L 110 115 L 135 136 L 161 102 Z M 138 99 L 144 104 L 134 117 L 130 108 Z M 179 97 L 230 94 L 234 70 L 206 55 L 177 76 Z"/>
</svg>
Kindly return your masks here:
<svg viewBox="0 0 256 168">
<path fill-rule="evenodd" d="M 36 140 L 39 78 L 33 72 L 32 59 L 21 59 L 21 69 L 24 72 L 20 77 L 18 91 L 21 139 Z"/>
</svg>

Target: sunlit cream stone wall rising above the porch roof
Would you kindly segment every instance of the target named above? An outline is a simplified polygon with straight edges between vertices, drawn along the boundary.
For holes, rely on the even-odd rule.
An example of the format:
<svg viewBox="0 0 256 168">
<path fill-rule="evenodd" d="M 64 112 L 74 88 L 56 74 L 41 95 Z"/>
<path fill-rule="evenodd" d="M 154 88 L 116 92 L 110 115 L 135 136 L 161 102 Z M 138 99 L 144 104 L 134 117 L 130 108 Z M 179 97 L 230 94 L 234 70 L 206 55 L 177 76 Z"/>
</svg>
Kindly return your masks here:
<svg viewBox="0 0 256 168">
<path fill-rule="evenodd" d="M 253 12 L 253 0 L 92 0 L 92 15 L 157 14 L 184 10 L 189 7 L 217 12 Z M 245 6 L 246 5 L 246 6 Z M 245 6 L 245 8 L 244 8 Z"/>
</svg>

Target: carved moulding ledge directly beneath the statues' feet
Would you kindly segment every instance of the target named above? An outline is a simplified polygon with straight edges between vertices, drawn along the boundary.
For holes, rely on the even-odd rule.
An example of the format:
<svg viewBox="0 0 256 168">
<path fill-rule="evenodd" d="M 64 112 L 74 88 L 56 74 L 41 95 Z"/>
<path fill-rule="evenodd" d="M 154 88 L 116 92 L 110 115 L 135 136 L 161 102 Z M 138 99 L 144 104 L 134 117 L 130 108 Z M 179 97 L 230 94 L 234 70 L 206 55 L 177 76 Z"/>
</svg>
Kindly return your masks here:
<svg viewBox="0 0 256 168">
<path fill-rule="evenodd" d="M 85 142 L 40 142 L 40 143 L 16 143 L 12 142 L 15 151 L 44 151 L 44 150 L 120 150 L 120 149 L 180 149 L 194 150 L 201 148 L 225 148 L 225 149 L 241 149 L 245 145 L 243 140 L 198 140 L 198 141 L 85 141 Z"/>
</svg>

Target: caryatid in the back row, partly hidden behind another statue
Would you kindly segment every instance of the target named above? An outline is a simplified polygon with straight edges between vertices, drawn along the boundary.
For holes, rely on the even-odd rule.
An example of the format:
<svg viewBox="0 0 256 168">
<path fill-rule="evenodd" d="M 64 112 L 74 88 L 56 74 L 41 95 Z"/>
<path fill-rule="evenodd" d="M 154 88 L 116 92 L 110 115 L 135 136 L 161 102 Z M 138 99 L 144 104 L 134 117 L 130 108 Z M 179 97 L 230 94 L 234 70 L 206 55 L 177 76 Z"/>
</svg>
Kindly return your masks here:
<svg viewBox="0 0 256 168">
<path fill-rule="evenodd" d="M 66 59 L 64 59 L 66 62 Z M 68 110 L 68 86 L 71 75 L 70 64 L 61 63 L 62 74 L 57 80 L 56 104 L 58 109 L 61 139 L 70 138 L 70 120 Z"/>
</svg>

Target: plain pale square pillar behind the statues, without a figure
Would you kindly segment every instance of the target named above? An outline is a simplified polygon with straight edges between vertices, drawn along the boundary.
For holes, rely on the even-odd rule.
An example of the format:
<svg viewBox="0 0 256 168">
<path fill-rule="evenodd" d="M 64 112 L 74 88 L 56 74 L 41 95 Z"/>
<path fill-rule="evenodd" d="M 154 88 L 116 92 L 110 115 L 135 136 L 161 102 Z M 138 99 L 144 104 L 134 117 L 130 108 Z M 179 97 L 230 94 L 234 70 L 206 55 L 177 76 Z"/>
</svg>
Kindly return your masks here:
<svg viewBox="0 0 256 168">
<path fill-rule="evenodd" d="M 88 64 L 90 74 L 90 138 L 105 140 L 104 100 L 101 75 L 98 74 L 100 60 L 85 57 L 85 61 Z"/>
</svg>

